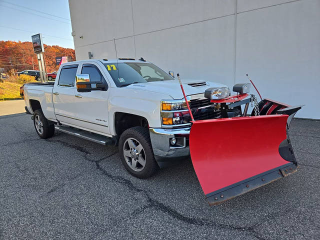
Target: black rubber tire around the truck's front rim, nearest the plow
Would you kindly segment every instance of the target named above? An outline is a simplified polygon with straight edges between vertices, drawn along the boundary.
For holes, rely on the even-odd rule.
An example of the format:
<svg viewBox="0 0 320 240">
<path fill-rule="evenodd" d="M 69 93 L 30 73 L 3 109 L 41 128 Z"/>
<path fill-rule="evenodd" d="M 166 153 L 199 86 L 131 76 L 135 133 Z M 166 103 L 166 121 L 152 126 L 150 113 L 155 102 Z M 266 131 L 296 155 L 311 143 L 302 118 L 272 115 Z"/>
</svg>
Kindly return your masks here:
<svg viewBox="0 0 320 240">
<path fill-rule="evenodd" d="M 126 147 L 127 140 L 129 138 L 134 138 L 138 141 L 139 144 L 142 145 L 143 158 L 145 159 L 145 165 L 142 170 L 136 171 L 133 170 L 129 166 L 129 158 L 124 156 L 124 148 Z M 147 128 L 142 126 L 134 126 L 129 129 L 126 129 L 120 136 L 119 139 L 119 155 L 121 158 L 121 162 L 125 169 L 133 176 L 138 178 L 147 178 L 151 176 L 157 169 L 158 165 L 154 159 L 153 150 L 151 146 L 151 139 L 149 135 L 149 131 Z M 131 158 L 132 160 L 133 158 Z"/>
</svg>

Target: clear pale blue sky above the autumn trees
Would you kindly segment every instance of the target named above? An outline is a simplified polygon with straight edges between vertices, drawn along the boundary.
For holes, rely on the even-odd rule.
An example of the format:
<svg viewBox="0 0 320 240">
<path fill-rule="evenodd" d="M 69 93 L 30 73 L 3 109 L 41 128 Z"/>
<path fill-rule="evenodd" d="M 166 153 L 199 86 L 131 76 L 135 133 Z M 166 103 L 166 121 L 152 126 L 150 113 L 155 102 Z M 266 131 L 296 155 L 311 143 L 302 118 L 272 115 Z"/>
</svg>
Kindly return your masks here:
<svg viewBox="0 0 320 240">
<path fill-rule="evenodd" d="M 42 33 L 43 43 L 74 49 L 71 31 L 67 0 L 0 0 L 0 40 Z"/>
</svg>

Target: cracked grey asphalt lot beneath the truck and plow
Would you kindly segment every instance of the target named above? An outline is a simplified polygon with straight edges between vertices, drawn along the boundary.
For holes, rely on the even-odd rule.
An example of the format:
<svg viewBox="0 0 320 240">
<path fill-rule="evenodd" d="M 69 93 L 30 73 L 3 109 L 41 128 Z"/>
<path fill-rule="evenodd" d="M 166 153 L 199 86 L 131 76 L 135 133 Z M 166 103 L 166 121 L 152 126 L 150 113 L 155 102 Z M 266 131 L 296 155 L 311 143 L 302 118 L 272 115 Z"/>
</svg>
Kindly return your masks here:
<svg viewBox="0 0 320 240">
<path fill-rule="evenodd" d="M 141 180 L 116 147 L 0 116 L 0 239 L 319 239 L 320 121 L 290 138 L 296 173 L 210 207 L 190 159 Z"/>
</svg>

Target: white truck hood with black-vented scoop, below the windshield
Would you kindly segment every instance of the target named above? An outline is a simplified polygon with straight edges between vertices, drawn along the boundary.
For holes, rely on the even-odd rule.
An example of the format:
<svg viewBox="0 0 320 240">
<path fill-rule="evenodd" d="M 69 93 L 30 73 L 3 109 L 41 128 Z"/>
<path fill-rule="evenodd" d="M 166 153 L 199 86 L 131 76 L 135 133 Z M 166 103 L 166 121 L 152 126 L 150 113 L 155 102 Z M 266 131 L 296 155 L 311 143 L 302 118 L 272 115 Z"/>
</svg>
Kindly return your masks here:
<svg viewBox="0 0 320 240">
<path fill-rule="evenodd" d="M 227 87 L 226 85 L 221 83 L 216 83 L 212 81 L 194 80 L 194 79 L 181 79 L 181 82 L 186 95 L 204 93 L 204 90 L 209 87 Z M 183 98 L 180 84 L 177 79 L 134 83 L 126 86 L 125 88 L 132 88 L 132 89 L 139 89 L 139 90 L 168 94 L 173 99 Z"/>
</svg>

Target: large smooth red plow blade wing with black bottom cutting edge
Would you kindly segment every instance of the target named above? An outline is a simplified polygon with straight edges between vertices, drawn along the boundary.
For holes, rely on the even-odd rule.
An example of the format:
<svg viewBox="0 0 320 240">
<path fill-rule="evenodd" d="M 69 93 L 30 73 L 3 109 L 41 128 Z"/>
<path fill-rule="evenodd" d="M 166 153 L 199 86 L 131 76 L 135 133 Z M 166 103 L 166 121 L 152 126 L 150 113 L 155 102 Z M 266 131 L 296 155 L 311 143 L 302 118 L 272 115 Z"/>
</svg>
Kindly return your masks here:
<svg viewBox="0 0 320 240">
<path fill-rule="evenodd" d="M 191 160 L 210 205 L 296 171 L 287 118 L 274 114 L 193 121 Z"/>
</svg>

